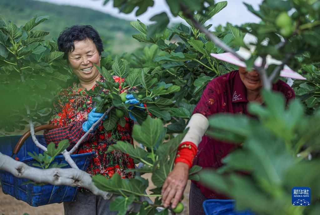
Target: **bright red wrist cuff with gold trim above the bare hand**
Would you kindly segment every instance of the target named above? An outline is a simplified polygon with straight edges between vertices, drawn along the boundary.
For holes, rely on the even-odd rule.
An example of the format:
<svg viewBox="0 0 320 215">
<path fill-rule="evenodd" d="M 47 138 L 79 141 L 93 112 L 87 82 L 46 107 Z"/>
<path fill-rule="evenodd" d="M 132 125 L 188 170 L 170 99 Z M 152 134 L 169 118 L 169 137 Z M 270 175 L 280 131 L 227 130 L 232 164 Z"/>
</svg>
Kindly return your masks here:
<svg viewBox="0 0 320 215">
<path fill-rule="evenodd" d="M 182 162 L 189 166 L 192 166 L 193 159 L 196 157 L 198 149 L 193 142 L 182 142 L 180 143 L 177 151 L 177 157 L 174 163 Z"/>
</svg>

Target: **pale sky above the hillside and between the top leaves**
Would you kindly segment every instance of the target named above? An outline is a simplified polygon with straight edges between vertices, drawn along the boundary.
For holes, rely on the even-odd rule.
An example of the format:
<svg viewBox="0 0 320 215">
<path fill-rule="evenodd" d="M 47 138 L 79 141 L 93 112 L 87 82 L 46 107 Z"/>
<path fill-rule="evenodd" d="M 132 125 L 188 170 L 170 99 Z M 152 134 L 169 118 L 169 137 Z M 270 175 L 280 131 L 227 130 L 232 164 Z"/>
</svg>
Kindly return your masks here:
<svg viewBox="0 0 320 215">
<path fill-rule="evenodd" d="M 130 14 L 119 13 L 119 9 L 113 7 L 113 1 L 109 1 L 108 4 L 103 6 L 104 0 L 38 0 L 43 2 L 51 2 L 54 4 L 60 5 L 73 5 L 78 7 L 91 8 L 93 10 L 101 11 L 104 13 L 108 13 L 112 16 L 127 19 L 127 20 L 137 20 L 139 19 L 141 22 L 150 24 L 152 22 L 149 19 L 161 12 L 167 12 L 170 15 L 170 9 L 167 6 L 165 0 L 154 0 L 155 4 L 153 7 L 149 7 L 146 13 L 136 17 L 135 9 Z M 171 0 L 174 1 L 174 0 Z M 217 0 L 215 2 L 220 2 L 221 0 Z M 257 9 L 258 5 L 262 2 L 262 0 L 229 0 L 228 5 L 218 14 L 216 14 L 212 19 L 207 21 L 207 25 L 212 24 L 213 26 L 218 26 L 220 24 L 225 25 L 227 22 L 232 23 L 233 25 L 240 25 L 245 22 L 258 22 L 260 19 L 253 15 L 251 12 L 247 10 L 244 6 L 243 2 L 247 4 L 251 4 L 253 8 Z M 180 17 L 169 16 L 171 23 L 183 22 Z"/>
</svg>

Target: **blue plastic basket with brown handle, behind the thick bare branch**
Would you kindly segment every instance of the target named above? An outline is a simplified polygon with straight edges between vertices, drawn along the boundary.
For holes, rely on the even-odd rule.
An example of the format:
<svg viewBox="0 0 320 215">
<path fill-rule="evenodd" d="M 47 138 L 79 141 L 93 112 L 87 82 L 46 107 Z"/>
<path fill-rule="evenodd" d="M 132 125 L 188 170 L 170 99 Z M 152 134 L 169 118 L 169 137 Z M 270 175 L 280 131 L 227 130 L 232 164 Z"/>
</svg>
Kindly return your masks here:
<svg viewBox="0 0 320 215">
<path fill-rule="evenodd" d="M 12 156 L 12 150 L 21 136 L 6 136 L 0 137 L 0 151 L 1 153 Z M 43 135 L 36 135 L 38 141 L 42 145 L 46 145 Z M 43 150 L 36 147 L 32 138 L 29 137 L 22 147 L 20 148 L 17 157 L 21 162 L 32 166 L 32 163 L 36 161 L 30 157 L 27 152 L 43 153 Z M 71 155 L 72 159 L 76 162 L 76 165 L 81 170 L 86 170 L 89 166 L 90 159 L 94 155 L 94 152 Z M 54 162 L 67 163 L 63 155 L 56 156 Z M 65 166 L 63 168 L 70 168 Z M 69 186 L 55 186 L 46 184 L 43 186 L 35 186 L 34 184 L 25 184 L 28 179 L 17 178 L 11 173 L 0 170 L 0 181 L 2 185 L 2 191 L 4 194 L 9 194 L 18 200 L 22 200 L 31 206 L 37 207 L 52 203 L 61 203 L 66 201 L 75 201 L 78 188 Z"/>
</svg>

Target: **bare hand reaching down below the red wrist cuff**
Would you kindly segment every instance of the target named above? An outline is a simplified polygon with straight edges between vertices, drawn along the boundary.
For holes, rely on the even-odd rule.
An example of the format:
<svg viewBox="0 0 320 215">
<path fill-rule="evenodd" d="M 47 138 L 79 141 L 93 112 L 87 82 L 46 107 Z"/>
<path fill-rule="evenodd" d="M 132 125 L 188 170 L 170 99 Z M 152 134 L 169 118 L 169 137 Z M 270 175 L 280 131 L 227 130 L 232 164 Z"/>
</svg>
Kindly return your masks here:
<svg viewBox="0 0 320 215">
<path fill-rule="evenodd" d="M 177 162 L 166 178 L 161 190 L 162 203 L 168 207 L 172 201 L 172 208 L 175 208 L 183 195 L 189 175 L 189 166 L 182 162 Z"/>
</svg>

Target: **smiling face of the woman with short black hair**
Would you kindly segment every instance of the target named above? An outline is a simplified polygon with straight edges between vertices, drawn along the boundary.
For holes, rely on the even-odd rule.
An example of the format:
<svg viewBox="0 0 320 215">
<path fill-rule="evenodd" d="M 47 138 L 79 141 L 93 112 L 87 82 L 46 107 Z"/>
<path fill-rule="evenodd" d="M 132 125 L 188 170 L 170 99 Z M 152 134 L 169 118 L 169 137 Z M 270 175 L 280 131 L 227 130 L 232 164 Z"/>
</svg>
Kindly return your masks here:
<svg viewBox="0 0 320 215">
<path fill-rule="evenodd" d="M 99 70 L 93 65 L 100 66 L 101 56 L 96 45 L 90 39 L 75 41 L 75 50 L 68 53 L 72 71 L 82 82 L 95 81 L 100 77 Z"/>
</svg>

